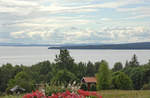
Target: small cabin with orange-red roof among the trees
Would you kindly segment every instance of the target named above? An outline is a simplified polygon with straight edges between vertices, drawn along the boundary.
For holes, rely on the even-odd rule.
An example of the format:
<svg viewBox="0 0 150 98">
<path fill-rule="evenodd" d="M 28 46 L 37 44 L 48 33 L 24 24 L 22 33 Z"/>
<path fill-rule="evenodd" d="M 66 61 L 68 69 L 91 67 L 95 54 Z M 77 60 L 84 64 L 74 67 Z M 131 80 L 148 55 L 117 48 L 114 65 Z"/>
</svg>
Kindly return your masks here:
<svg viewBox="0 0 150 98">
<path fill-rule="evenodd" d="M 97 82 L 97 80 L 95 77 L 83 77 L 81 80 L 81 83 L 86 83 L 88 85 L 88 90 L 90 89 L 90 86 L 92 84 L 96 85 L 96 82 Z"/>
</svg>

